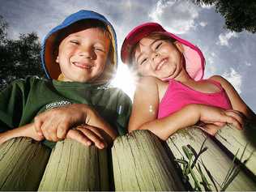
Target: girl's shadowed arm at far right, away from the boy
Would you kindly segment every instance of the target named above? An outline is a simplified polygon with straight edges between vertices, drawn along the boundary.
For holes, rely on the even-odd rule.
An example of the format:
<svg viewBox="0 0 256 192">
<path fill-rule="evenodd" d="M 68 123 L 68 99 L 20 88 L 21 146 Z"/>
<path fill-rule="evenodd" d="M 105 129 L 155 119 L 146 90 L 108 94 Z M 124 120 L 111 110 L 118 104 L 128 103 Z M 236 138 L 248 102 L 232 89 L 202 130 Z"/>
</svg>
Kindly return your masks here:
<svg viewBox="0 0 256 192">
<path fill-rule="evenodd" d="M 229 83 L 228 80 L 224 79 L 220 75 L 214 75 L 210 79 L 218 81 L 221 84 L 221 86 L 227 93 L 234 110 L 243 113 L 245 117 L 247 117 L 249 120 L 256 120 L 255 113 L 245 104 L 245 102 L 241 99 L 233 85 Z"/>
</svg>

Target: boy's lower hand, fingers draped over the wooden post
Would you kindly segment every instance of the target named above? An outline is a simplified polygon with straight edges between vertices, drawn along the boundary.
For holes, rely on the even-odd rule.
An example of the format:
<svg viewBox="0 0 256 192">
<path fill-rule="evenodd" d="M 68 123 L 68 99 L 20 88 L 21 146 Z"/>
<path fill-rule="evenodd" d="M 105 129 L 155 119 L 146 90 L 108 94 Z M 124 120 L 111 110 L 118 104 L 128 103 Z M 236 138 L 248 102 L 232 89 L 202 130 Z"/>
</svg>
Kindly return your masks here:
<svg viewBox="0 0 256 192">
<path fill-rule="evenodd" d="M 90 146 L 94 143 L 96 147 L 103 149 L 108 146 L 105 142 L 104 135 L 103 130 L 95 126 L 81 125 L 69 130 L 66 138 L 75 139 L 85 146 Z"/>
</svg>

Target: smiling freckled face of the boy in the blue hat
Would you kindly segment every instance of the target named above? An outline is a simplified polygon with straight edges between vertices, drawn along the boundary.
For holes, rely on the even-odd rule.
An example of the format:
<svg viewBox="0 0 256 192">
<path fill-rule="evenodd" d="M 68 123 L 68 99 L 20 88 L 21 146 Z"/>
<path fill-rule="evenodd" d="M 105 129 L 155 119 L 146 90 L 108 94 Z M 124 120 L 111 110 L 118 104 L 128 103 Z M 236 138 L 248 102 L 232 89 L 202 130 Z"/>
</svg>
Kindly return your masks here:
<svg viewBox="0 0 256 192">
<path fill-rule="evenodd" d="M 104 71 L 110 40 L 100 28 L 87 28 L 71 33 L 62 40 L 56 62 L 63 81 L 93 82 Z"/>
</svg>

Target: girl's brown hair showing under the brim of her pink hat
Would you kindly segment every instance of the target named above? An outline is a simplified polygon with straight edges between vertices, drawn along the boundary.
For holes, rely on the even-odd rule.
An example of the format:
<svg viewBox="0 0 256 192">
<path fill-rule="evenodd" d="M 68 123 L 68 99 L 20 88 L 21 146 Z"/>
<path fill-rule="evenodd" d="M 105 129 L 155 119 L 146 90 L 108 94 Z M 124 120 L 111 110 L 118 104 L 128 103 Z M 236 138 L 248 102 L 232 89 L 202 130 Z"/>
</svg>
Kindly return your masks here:
<svg viewBox="0 0 256 192">
<path fill-rule="evenodd" d="M 175 42 L 176 40 L 174 40 L 173 38 L 166 36 L 163 32 L 152 32 L 151 34 L 149 34 L 148 36 L 145 36 L 147 38 L 150 38 L 152 40 L 165 40 L 165 41 L 169 41 L 170 43 Z M 134 47 L 132 48 L 132 51 L 130 52 L 130 63 L 131 65 L 131 70 L 136 70 L 136 65 L 134 62 L 134 58 L 135 58 L 135 50 L 139 47 L 139 42 L 137 44 L 134 45 Z"/>
</svg>

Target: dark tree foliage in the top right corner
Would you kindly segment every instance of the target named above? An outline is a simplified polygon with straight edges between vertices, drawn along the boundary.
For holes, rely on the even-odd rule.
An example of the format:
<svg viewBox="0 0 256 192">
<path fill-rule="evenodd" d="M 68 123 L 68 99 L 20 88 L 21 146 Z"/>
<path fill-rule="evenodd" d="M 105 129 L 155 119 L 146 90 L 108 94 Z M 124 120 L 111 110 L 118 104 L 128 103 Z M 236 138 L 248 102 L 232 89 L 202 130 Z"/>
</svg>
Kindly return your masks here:
<svg viewBox="0 0 256 192">
<path fill-rule="evenodd" d="M 225 19 L 225 27 L 233 32 L 256 32 L 255 0 L 194 0 L 197 5 L 214 5 Z"/>
</svg>

